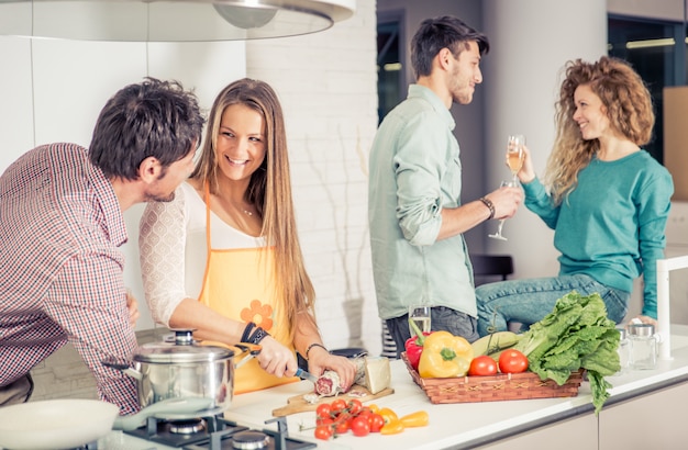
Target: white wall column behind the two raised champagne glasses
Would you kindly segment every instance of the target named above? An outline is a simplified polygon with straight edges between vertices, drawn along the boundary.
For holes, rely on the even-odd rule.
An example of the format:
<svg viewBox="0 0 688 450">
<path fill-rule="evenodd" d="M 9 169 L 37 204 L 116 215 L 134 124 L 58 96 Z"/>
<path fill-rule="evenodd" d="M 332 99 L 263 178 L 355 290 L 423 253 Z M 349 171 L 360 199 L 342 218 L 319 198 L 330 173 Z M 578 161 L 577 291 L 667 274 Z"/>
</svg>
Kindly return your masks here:
<svg viewBox="0 0 688 450">
<path fill-rule="evenodd" d="M 526 136 L 535 170 L 543 175 L 554 143 L 562 68 L 567 60 L 607 54 L 607 10 L 599 0 L 485 0 L 482 8 L 491 44 L 485 58 L 487 181 L 496 189 L 511 178 L 503 156 L 509 134 Z M 489 226 L 493 230 L 497 224 Z M 558 273 L 554 233 L 535 214 L 522 206 L 506 222 L 503 235 L 509 240 L 486 237 L 486 247 L 513 255 L 514 278 Z"/>
</svg>

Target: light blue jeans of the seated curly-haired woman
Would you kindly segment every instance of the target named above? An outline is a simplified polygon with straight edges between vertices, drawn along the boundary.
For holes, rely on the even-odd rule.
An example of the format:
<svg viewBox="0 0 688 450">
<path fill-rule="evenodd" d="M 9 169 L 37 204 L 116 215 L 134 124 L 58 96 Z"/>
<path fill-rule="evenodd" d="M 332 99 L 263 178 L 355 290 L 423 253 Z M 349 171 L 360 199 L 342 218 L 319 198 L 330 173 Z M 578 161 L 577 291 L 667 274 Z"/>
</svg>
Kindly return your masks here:
<svg viewBox="0 0 688 450">
<path fill-rule="evenodd" d="M 550 314 L 558 299 L 574 290 L 581 295 L 600 294 L 609 319 L 620 323 L 625 317 L 631 293 L 600 284 L 585 274 L 509 280 L 476 288 L 478 333 L 485 336 L 503 331 L 508 322 L 518 322 L 528 329 Z"/>
</svg>

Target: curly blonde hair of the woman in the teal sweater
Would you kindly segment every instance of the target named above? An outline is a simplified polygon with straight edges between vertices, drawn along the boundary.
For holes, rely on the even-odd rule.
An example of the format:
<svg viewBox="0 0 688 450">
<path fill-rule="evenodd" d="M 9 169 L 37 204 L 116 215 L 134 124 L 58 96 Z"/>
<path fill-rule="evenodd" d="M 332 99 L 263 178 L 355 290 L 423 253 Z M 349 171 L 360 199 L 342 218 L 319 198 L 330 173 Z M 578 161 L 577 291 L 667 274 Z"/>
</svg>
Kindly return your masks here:
<svg viewBox="0 0 688 450">
<path fill-rule="evenodd" d="M 582 139 L 574 121 L 576 88 L 588 86 L 600 98 L 610 126 L 637 146 L 650 142 L 655 123 L 650 91 L 626 61 L 608 56 L 596 63 L 576 59 L 566 64 L 565 75 L 556 103 L 556 138 L 545 170 L 545 184 L 555 205 L 576 188 L 578 172 L 600 147 L 598 139 Z"/>
</svg>

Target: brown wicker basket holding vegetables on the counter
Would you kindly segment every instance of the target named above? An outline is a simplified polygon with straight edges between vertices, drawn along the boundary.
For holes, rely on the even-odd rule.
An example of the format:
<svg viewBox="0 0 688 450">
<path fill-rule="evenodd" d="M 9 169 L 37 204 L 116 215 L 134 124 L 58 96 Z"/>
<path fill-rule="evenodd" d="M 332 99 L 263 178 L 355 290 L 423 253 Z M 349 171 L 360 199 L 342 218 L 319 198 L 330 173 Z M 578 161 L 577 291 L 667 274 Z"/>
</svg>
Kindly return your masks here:
<svg viewBox="0 0 688 450">
<path fill-rule="evenodd" d="M 533 372 L 500 373 L 491 376 L 462 376 L 451 379 L 423 379 L 411 367 L 406 352 L 401 359 L 407 364 L 415 384 L 421 386 L 431 403 L 474 403 L 504 400 L 575 397 L 582 382 L 582 370 L 573 372 L 566 383 L 540 380 Z"/>
</svg>

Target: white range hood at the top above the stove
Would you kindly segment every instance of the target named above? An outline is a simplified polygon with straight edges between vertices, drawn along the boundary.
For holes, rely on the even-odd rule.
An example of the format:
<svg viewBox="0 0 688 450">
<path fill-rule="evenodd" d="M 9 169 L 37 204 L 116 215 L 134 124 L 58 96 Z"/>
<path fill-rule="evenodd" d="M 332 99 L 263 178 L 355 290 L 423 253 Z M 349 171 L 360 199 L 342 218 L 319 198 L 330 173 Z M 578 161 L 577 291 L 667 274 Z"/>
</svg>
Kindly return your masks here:
<svg viewBox="0 0 688 450">
<path fill-rule="evenodd" d="M 203 42 L 296 36 L 348 19 L 355 0 L 0 0 L 0 35 Z"/>
</svg>

